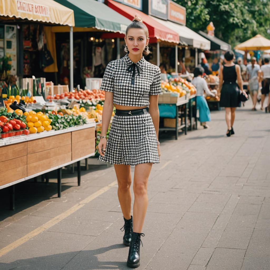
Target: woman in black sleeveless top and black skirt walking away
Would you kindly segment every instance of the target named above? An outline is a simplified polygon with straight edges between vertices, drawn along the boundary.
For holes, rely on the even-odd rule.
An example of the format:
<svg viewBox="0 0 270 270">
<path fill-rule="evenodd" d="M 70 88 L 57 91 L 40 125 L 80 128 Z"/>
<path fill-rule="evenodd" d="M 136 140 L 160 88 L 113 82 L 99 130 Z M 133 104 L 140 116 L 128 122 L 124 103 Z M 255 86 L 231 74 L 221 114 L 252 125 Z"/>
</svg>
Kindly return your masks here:
<svg viewBox="0 0 270 270">
<path fill-rule="evenodd" d="M 234 53 L 231 50 L 228 50 L 225 52 L 224 58 L 225 65 L 220 68 L 220 106 L 225 107 L 225 120 L 228 127 L 226 135 L 230 137 L 234 134 L 232 126 L 234 124 L 236 107 L 241 106 L 240 90 L 246 97 L 248 96 L 246 92 L 243 91 L 240 67 L 233 63 Z"/>
</svg>

